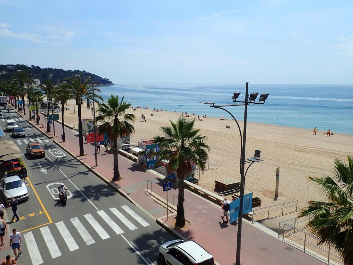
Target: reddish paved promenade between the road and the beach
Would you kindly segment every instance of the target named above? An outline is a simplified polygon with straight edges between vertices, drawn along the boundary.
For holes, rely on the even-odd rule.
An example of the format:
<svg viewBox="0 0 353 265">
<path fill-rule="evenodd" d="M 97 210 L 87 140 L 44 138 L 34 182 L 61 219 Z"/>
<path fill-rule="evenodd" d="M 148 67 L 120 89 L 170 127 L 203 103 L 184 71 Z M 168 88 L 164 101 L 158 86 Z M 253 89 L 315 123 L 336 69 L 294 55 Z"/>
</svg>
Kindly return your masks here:
<svg viewBox="0 0 353 265">
<path fill-rule="evenodd" d="M 55 123 L 56 137 L 60 145 L 71 153 L 78 155 L 78 134 L 73 130 L 65 128 L 66 142 L 61 141 L 61 124 Z M 59 137 L 58 137 L 59 136 Z M 95 169 L 109 181 L 113 177 L 113 154 L 105 154 L 104 149 L 98 154 L 98 166 L 95 167 L 94 145 L 84 144 L 86 155 L 79 157 L 80 160 Z M 162 198 L 166 198 L 163 192 L 162 177 L 145 170 L 143 167 L 133 163 L 119 155 L 119 170 L 122 181 L 115 182 L 119 189 L 125 192 L 132 200 L 147 211 L 151 216 L 163 222 L 166 221 L 166 208 L 153 200 L 148 192 L 145 192 L 147 180 L 152 182 L 152 191 Z M 82 176 L 84 177 L 84 175 Z M 177 185 L 172 185 L 168 192 L 168 201 L 172 202 L 173 195 L 178 196 Z M 177 198 L 174 197 L 176 201 Z M 174 202 L 176 204 L 176 202 Z M 237 247 L 237 223 L 226 224 L 221 219 L 222 210 L 220 206 L 213 204 L 185 190 L 185 217 L 191 226 L 187 229 L 176 230 L 187 239 L 194 240 L 207 249 L 222 265 L 235 264 L 235 253 Z M 166 224 L 174 220 L 175 214 L 169 216 Z M 321 261 L 305 254 L 304 252 L 283 243 L 267 232 L 258 229 L 248 222 L 243 222 L 241 264 L 324 264 Z"/>
</svg>

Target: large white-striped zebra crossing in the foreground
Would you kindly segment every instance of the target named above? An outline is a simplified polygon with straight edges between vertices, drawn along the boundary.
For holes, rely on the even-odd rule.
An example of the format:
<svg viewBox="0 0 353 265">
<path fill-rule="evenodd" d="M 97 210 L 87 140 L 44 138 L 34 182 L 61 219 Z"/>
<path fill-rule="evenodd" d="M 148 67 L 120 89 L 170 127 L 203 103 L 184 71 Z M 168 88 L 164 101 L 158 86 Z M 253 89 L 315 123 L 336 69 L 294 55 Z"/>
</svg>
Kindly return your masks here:
<svg viewBox="0 0 353 265">
<path fill-rule="evenodd" d="M 70 218 L 71 223 L 67 222 L 67 224 L 65 224 L 64 221 L 55 223 L 56 228 L 55 226 L 51 226 L 50 228 L 49 226 L 44 226 L 40 228 L 42 238 L 40 237 L 37 240 L 38 242 L 42 239 L 44 240 L 44 243 L 47 246 L 47 249 L 49 250 L 49 253 L 52 259 L 55 259 L 62 255 L 61 251 L 63 248 L 59 248 L 59 246 L 63 245 L 62 244 L 63 242 L 67 246 L 68 250 L 70 250 L 70 252 L 80 248 L 78 243 L 75 241 L 75 238 L 71 235 L 70 231 L 67 229 L 67 226 L 72 227 L 71 224 L 73 225 L 74 229 L 77 230 L 78 234 L 80 235 L 80 237 L 85 242 L 85 245 L 87 246 L 96 243 L 97 240 L 100 240 L 100 239 L 105 240 L 107 238 L 110 238 L 109 232 L 111 231 L 104 230 L 104 228 L 100 224 L 101 222 L 102 223 L 105 222 L 110 227 L 110 229 L 112 229 L 117 235 L 121 235 L 124 233 L 123 228 L 125 226 L 129 230 L 138 229 L 138 227 L 135 224 L 133 224 L 126 216 L 131 216 L 135 221 L 137 221 L 137 223 L 139 223 L 143 227 L 150 225 L 148 222 L 146 222 L 142 217 L 140 217 L 136 212 L 134 212 L 127 205 L 122 205 L 120 207 L 121 209 L 119 208 L 119 210 L 115 207 L 109 208 L 109 211 L 112 214 L 112 216 L 117 217 L 118 220 L 113 220 L 114 217 L 111 218 L 108 215 L 109 212 L 106 213 L 103 210 L 97 211 L 98 216 L 96 218 L 92 216 L 92 214 L 88 213 L 83 215 L 84 218 L 80 218 L 80 219 L 78 217 Z M 84 224 L 87 224 L 86 227 Z M 121 224 L 125 226 L 122 226 Z M 94 231 L 100 236 L 100 238 L 97 237 L 96 234 L 91 235 L 87 230 L 88 228 L 93 228 Z M 55 230 L 57 229 L 57 230 L 54 232 L 54 229 Z M 59 231 L 61 237 L 57 236 L 59 238 L 54 238 L 51 230 L 56 234 L 58 234 L 57 231 Z M 24 237 L 24 241 L 26 243 L 26 247 L 28 249 L 28 253 L 30 255 L 32 264 L 33 265 L 43 264 L 42 257 L 46 257 L 45 255 L 43 255 L 43 253 L 45 253 L 47 250 L 38 248 L 35 234 L 32 231 L 25 233 L 23 237 Z M 81 242 L 81 241 L 78 241 L 78 242 Z M 40 245 L 43 246 L 43 244 L 40 244 Z M 49 256 L 47 255 L 47 257 Z M 48 262 L 48 260 L 46 260 L 46 262 Z"/>
</svg>

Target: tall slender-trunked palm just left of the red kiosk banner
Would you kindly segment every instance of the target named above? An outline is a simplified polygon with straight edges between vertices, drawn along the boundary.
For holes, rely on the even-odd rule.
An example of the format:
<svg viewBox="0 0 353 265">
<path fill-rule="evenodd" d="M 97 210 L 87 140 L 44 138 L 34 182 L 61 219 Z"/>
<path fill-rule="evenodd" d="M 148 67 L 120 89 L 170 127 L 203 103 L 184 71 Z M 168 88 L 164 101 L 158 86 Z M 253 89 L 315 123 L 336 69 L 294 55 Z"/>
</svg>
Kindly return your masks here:
<svg viewBox="0 0 353 265">
<path fill-rule="evenodd" d="M 87 77 L 85 80 L 82 80 L 81 75 L 73 75 L 72 77 L 64 78 L 64 83 L 62 83 L 62 87 L 71 91 L 71 98 L 76 100 L 77 105 L 77 116 L 78 116 L 78 141 L 80 147 L 80 156 L 84 155 L 83 150 L 83 133 L 82 133 L 82 118 L 81 118 L 81 105 L 83 104 L 83 100 L 87 101 L 87 108 L 90 108 L 90 103 L 88 99 L 92 98 L 92 89 L 90 89 L 90 77 Z M 101 92 L 101 90 L 95 88 L 96 92 Z M 98 103 L 99 99 L 102 99 L 101 96 L 95 95 L 95 101 Z"/>
</svg>

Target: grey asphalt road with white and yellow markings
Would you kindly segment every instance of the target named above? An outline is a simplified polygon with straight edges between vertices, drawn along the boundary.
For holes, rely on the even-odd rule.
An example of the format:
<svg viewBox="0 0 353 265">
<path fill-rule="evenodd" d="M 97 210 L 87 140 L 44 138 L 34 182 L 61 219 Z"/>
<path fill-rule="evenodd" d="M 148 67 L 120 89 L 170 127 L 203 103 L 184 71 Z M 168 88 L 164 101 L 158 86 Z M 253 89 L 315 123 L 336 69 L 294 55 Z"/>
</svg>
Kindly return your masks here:
<svg viewBox="0 0 353 265">
<path fill-rule="evenodd" d="M 7 116 L 18 119 L 27 137 L 14 139 L 6 131 Z M 0 126 L 1 140 L 17 144 L 28 169 L 30 198 L 18 205 L 20 221 L 11 224 L 22 234 L 21 264 L 160 264 L 158 247 L 174 235 L 17 113 L 3 112 Z M 31 139 L 41 141 L 46 157 L 28 157 Z M 60 183 L 69 190 L 66 206 L 56 199 Z M 7 213 L 12 216 L 11 208 Z"/>
</svg>

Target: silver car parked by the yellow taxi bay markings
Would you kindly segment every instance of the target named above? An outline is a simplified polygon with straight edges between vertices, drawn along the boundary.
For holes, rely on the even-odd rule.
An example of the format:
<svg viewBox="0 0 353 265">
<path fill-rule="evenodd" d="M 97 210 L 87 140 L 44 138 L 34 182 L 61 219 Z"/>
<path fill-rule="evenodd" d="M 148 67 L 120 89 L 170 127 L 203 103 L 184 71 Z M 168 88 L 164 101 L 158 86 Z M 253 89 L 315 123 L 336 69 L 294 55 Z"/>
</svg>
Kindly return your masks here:
<svg viewBox="0 0 353 265">
<path fill-rule="evenodd" d="M 6 202 L 10 203 L 11 198 L 16 201 L 23 201 L 29 199 L 26 184 L 23 183 L 19 176 L 11 176 L 2 178 L 0 181 L 0 190 Z"/>
</svg>

